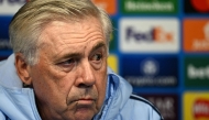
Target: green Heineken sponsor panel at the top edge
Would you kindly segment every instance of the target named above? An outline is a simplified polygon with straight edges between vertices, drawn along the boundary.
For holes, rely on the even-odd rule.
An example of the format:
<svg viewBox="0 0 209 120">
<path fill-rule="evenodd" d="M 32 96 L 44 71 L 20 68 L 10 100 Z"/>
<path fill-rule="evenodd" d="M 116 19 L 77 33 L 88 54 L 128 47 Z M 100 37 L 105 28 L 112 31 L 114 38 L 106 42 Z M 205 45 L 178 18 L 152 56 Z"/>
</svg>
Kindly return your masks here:
<svg viewBox="0 0 209 120">
<path fill-rule="evenodd" d="M 177 0 L 122 0 L 123 13 L 177 13 Z"/>
</svg>

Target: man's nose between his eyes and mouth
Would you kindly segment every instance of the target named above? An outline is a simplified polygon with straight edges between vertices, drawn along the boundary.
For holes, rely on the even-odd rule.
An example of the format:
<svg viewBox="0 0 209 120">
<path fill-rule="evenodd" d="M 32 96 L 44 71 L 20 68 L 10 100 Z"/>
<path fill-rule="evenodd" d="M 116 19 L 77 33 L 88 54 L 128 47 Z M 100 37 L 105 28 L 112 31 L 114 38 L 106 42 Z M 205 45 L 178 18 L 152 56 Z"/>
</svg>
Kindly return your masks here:
<svg viewBox="0 0 209 120">
<path fill-rule="evenodd" d="M 95 79 L 95 73 L 94 68 L 90 65 L 89 61 L 85 61 L 81 63 L 80 68 L 79 68 L 79 77 L 77 79 L 77 86 L 79 87 L 90 87 L 96 83 Z"/>
</svg>

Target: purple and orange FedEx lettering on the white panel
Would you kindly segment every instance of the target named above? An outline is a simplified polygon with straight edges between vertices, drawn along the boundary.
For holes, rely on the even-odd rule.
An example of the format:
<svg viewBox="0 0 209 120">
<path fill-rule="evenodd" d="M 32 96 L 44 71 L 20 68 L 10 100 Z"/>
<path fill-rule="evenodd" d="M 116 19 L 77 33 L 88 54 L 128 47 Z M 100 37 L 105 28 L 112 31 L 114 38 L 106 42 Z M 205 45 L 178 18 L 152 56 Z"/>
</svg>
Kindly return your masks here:
<svg viewBox="0 0 209 120">
<path fill-rule="evenodd" d="M 173 32 L 163 30 L 162 26 L 151 28 L 151 30 L 146 32 L 136 31 L 134 28 L 130 26 L 127 29 L 127 41 L 131 39 L 144 42 L 173 42 L 174 34 Z"/>
</svg>

